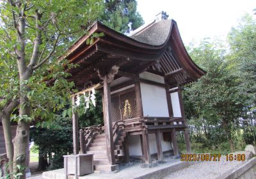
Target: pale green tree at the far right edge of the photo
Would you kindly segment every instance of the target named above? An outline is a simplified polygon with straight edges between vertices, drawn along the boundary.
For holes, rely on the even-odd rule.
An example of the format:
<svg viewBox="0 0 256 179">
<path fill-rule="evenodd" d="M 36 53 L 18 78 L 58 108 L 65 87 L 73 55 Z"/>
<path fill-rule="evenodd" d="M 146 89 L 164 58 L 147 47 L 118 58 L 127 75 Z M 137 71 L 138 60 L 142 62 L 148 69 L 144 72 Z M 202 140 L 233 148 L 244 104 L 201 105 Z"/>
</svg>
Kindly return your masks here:
<svg viewBox="0 0 256 179">
<path fill-rule="evenodd" d="M 244 116 L 243 129 L 247 143 L 255 143 L 256 132 L 256 19 L 255 16 L 246 14 L 238 26 L 232 27 L 228 35 L 230 45 L 230 61 L 234 70 L 241 78 L 240 87 L 248 97 L 246 109 L 248 115 Z"/>
</svg>

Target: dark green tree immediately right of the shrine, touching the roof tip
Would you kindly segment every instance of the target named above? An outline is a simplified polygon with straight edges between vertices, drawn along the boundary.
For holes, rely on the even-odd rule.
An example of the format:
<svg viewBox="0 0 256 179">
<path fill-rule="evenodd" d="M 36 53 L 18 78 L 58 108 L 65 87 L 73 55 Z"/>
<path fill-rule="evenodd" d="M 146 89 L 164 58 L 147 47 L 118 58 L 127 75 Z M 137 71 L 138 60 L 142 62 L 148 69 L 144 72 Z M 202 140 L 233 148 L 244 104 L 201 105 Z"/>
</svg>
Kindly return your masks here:
<svg viewBox="0 0 256 179">
<path fill-rule="evenodd" d="M 217 48 L 218 47 L 218 48 Z M 186 89 L 188 100 L 193 103 L 197 116 L 222 127 L 234 152 L 232 124 L 239 123 L 245 111 L 246 96 L 239 88 L 239 75 L 234 73 L 228 63 L 225 50 L 218 44 L 206 41 L 198 47 L 189 49 L 192 59 L 207 72 L 204 77 L 190 84 Z"/>
</svg>

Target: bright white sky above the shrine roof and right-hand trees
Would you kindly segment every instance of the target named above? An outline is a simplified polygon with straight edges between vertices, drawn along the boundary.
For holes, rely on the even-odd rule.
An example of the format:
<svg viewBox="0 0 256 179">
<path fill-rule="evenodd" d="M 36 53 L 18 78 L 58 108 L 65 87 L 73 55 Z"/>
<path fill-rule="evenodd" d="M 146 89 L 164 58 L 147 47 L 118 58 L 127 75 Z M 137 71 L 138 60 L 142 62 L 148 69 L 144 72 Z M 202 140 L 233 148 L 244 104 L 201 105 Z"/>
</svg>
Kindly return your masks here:
<svg viewBox="0 0 256 179">
<path fill-rule="evenodd" d="M 177 22 L 185 45 L 210 37 L 225 40 L 232 26 L 244 13 L 253 14 L 255 0 L 137 0 L 138 12 L 150 22 L 159 12 L 166 12 Z M 256 16 L 256 15 L 255 15 Z"/>
</svg>

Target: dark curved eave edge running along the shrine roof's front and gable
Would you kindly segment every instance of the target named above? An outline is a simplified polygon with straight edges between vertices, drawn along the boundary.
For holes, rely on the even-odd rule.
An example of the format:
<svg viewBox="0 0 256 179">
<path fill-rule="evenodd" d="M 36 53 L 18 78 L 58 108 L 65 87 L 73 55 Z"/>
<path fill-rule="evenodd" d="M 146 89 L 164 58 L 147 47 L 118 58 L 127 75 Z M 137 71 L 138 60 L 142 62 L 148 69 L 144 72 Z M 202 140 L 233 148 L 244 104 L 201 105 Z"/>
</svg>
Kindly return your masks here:
<svg viewBox="0 0 256 179">
<path fill-rule="evenodd" d="M 157 22 L 156 22 L 157 23 Z M 142 30 L 143 31 L 143 30 Z M 111 29 L 108 26 L 105 26 L 99 21 L 96 21 L 93 23 L 93 25 L 88 30 L 88 33 L 81 38 L 79 38 L 74 45 L 72 45 L 68 51 L 65 53 L 64 56 L 61 56 L 60 59 L 68 58 L 72 54 L 76 54 L 76 52 L 79 52 L 79 47 L 83 47 L 83 45 L 86 45 L 86 40 L 93 34 L 93 33 L 104 33 L 104 37 L 100 37 L 99 40 L 96 40 L 95 43 L 92 45 L 87 45 L 88 47 L 97 45 L 97 43 L 100 43 L 100 39 L 103 40 L 103 38 L 111 39 L 111 42 L 122 43 L 120 47 L 122 48 L 124 45 L 127 45 L 129 47 L 132 47 L 132 52 L 138 52 L 138 49 L 140 49 L 142 52 L 145 51 L 148 53 L 148 51 L 155 53 L 154 59 L 160 58 L 167 45 L 172 43 L 172 40 L 175 43 L 175 51 L 178 52 L 180 62 L 182 63 L 182 66 L 184 67 L 184 70 L 188 72 L 188 74 L 191 76 L 192 79 L 196 80 L 202 75 L 204 75 L 206 72 L 202 70 L 199 66 L 197 66 L 192 59 L 190 58 L 188 52 L 186 51 L 186 48 L 184 46 L 184 43 L 182 42 L 182 39 L 180 37 L 179 29 L 177 27 L 177 22 L 175 20 L 171 20 L 170 29 L 168 31 L 168 35 L 166 36 L 166 39 L 161 43 L 160 45 L 150 45 L 148 43 L 140 42 L 138 40 L 135 40 L 134 38 L 131 38 L 129 36 L 126 36 L 122 33 L 118 33 L 117 31 Z M 173 38 L 173 39 L 171 39 Z M 106 41 L 106 40 L 105 40 Z M 115 44 L 116 45 L 116 44 Z M 81 49 L 80 49 L 81 50 Z M 122 49 L 124 51 L 124 49 Z M 149 61 L 153 61 L 154 59 L 148 59 Z"/>
</svg>

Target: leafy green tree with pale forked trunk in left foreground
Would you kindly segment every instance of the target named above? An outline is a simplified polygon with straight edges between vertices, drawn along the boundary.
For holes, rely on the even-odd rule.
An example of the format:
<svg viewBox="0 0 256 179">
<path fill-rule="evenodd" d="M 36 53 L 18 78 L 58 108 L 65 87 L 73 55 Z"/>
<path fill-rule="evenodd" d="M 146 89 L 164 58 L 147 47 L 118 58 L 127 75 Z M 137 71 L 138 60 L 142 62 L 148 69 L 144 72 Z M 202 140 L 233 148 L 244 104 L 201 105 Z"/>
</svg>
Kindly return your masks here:
<svg viewBox="0 0 256 179">
<path fill-rule="evenodd" d="M 104 4 L 100 0 L 8 0 L 1 1 L 0 6 L 0 118 L 7 156 L 13 162 L 10 173 L 24 174 L 20 166 L 26 166 L 31 121 L 40 118 L 44 121 L 40 124 L 46 126 L 45 121 L 54 116 L 52 112 L 69 104 L 65 96 L 68 97 L 74 86 L 65 81 L 68 74 L 63 72 L 63 62 L 58 63 L 56 57 L 101 15 Z M 47 79 L 56 79 L 52 87 Z M 14 115 L 15 109 L 19 115 Z M 14 143 L 11 116 L 18 123 Z"/>
</svg>

